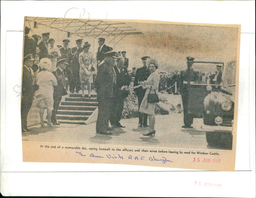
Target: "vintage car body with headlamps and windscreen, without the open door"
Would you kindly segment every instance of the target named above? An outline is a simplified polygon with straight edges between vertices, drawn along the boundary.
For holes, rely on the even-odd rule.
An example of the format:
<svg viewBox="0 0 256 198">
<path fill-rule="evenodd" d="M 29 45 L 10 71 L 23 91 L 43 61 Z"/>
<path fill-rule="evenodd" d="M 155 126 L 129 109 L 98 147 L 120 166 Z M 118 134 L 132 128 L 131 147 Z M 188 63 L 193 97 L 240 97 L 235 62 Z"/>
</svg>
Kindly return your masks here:
<svg viewBox="0 0 256 198">
<path fill-rule="evenodd" d="M 221 89 L 213 91 L 211 85 L 206 87 L 211 93 L 204 98 L 202 129 L 206 131 L 206 141 L 210 146 L 232 147 L 235 86 L 236 60 L 233 60 L 227 64 Z"/>
</svg>

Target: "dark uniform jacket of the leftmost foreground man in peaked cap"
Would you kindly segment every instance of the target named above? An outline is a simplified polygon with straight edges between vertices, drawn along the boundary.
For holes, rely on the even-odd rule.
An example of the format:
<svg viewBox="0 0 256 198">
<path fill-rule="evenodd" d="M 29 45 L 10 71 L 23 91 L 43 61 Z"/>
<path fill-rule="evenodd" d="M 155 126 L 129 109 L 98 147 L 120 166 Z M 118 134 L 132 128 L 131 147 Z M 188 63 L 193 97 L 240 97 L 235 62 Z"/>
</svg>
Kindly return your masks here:
<svg viewBox="0 0 256 198">
<path fill-rule="evenodd" d="M 22 71 L 22 96 L 23 98 L 31 99 L 34 96 L 33 78 L 31 71 L 23 66 Z"/>
</svg>

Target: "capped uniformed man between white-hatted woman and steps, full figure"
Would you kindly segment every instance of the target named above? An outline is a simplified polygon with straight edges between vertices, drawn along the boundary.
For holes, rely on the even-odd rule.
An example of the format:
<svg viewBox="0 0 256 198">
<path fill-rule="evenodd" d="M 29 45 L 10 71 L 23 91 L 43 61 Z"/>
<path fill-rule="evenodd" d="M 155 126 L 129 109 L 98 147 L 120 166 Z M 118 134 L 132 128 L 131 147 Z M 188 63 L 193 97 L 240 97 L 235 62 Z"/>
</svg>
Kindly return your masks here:
<svg viewBox="0 0 256 198">
<path fill-rule="evenodd" d="M 52 72 L 56 79 L 57 79 L 57 86 L 53 86 L 54 87 L 54 92 L 53 92 L 53 110 L 52 110 L 52 124 L 54 125 L 60 125 L 60 123 L 57 121 L 56 119 L 56 114 L 60 105 L 60 101 L 62 96 L 67 95 L 67 91 L 64 88 L 64 72 L 63 70 L 66 68 L 66 65 L 68 65 L 67 63 L 67 59 L 60 59 L 57 62 L 57 67 L 56 69 L 54 69 L 54 71 Z"/>
</svg>

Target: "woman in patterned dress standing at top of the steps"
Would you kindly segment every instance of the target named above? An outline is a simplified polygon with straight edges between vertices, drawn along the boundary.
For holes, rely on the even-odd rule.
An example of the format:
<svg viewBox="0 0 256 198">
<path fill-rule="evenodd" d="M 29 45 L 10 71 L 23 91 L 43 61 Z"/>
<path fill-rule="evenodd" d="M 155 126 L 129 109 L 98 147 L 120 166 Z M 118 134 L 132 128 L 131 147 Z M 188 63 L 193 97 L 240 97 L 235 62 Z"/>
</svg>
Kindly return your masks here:
<svg viewBox="0 0 256 198">
<path fill-rule="evenodd" d="M 80 81 L 82 85 L 82 98 L 84 98 L 84 88 L 87 84 L 88 96 L 91 98 L 91 83 L 93 83 L 92 78 L 92 68 L 94 64 L 92 52 L 89 51 L 91 44 L 88 42 L 84 43 L 84 51 L 79 54 L 79 65 L 80 65 Z"/>
</svg>

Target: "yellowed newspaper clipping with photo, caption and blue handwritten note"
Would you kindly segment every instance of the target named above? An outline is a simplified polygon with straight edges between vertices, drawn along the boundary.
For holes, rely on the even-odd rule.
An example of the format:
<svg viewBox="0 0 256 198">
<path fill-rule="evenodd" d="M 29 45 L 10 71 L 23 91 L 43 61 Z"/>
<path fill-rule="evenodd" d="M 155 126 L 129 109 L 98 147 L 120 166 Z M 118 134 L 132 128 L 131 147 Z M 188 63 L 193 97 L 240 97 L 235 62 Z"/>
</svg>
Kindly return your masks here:
<svg viewBox="0 0 256 198">
<path fill-rule="evenodd" d="M 239 44 L 240 25 L 25 17 L 23 161 L 234 167 Z"/>
</svg>

